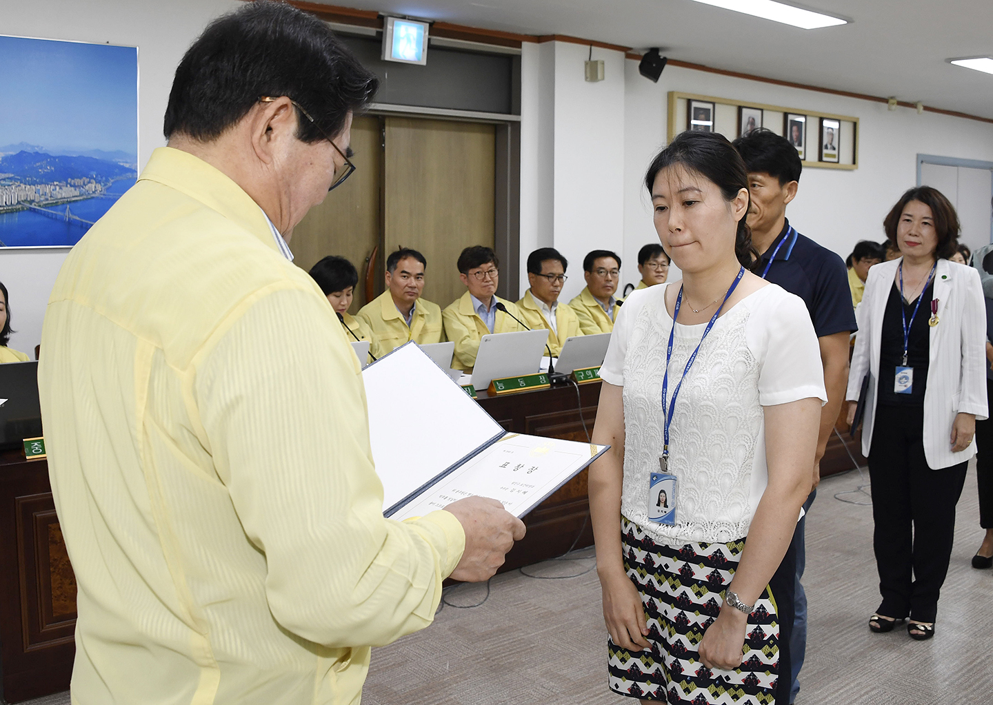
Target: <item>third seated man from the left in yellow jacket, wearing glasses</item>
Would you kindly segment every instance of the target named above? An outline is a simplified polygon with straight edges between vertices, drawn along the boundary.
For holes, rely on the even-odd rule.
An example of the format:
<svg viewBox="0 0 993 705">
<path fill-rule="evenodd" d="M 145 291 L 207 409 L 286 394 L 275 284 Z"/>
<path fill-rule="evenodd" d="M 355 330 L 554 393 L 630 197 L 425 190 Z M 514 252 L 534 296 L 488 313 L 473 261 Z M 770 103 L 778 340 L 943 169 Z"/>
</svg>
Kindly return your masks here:
<svg viewBox="0 0 993 705">
<path fill-rule="evenodd" d="M 562 346 L 573 336 L 582 336 L 579 319 L 568 304 L 560 303 L 559 294 L 568 278 L 569 263 L 554 247 L 536 249 L 527 256 L 527 283 L 531 288 L 517 302 L 521 321 L 532 330 L 548 329 L 548 347 L 558 356 Z"/>
</svg>

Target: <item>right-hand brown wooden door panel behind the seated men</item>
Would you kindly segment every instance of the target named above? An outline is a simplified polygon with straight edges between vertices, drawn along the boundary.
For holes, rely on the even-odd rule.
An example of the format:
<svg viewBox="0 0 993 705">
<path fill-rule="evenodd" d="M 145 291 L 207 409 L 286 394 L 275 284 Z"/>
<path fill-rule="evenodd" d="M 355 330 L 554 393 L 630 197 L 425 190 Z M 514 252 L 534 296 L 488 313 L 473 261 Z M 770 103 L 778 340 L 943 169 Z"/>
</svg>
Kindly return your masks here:
<svg viewBox="0 0 993 705">
<path fill-rule="evenodd" d="M 494 125 L 385 118 L 383 259 L 413 247 L 428 260 L 424 298 L 445 308 L 466 291 L 456 260 L 494 246 Z"/>
</svg>

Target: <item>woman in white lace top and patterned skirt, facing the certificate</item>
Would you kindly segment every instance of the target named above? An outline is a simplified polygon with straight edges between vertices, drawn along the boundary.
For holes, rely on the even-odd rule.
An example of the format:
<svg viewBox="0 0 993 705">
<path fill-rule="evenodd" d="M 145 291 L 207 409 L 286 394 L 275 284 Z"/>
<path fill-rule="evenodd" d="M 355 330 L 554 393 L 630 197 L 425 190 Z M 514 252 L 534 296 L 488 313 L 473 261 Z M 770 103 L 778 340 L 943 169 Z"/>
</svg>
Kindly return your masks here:
<svg viewBox="0 0 993 705">
<path fill-rule="evenodd" d="M 610 687 L 788 703 L 787 549 L 826 399 L 817 339 L 800 299 L 747 271 L 748 180 L 724 137 L 682 133 L 645 187 L 683 280 L 628 298 L 600 371 L 594 442 L 612 449 L 590 510 Z"/>
</svg>

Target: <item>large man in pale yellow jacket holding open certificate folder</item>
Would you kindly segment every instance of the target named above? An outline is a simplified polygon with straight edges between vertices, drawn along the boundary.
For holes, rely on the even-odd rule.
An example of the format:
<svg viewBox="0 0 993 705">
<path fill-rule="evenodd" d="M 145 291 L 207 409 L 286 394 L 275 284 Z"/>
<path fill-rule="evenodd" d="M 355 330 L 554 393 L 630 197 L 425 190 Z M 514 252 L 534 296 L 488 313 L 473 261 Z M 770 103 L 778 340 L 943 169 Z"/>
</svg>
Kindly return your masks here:
<svg viewBox="0 0 993 705">
<path fill-rule="evenodd" d="M 369 647 L 522 532 L 480 497 L 383 518 L 358 362 L 288 259 L 375 85 L 318 19 L 245 3 L 177 70 L 170 147 L 66 259 L 38 376 L 76 705 L 355 704 Z"/>
</svg>

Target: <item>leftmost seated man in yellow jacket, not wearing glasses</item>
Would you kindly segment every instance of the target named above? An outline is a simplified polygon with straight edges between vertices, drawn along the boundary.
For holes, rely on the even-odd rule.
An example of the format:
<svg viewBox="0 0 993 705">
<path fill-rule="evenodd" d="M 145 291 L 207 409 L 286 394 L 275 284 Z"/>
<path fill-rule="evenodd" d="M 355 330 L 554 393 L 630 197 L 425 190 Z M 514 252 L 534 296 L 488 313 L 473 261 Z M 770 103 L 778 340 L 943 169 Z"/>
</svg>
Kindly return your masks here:
<svg viewBox="0 0 993 705">
<path fill-rule="evenodd" d="M 441 307 L 421 298 L 427 266 L 424 255 L 409 247 L 386 258 L 386 291 L 356 316 L 372 332 L 371 352 L 376 357 L 408 341 L 425 345 L 445 339 Z"/>
</svg>

